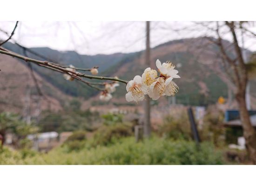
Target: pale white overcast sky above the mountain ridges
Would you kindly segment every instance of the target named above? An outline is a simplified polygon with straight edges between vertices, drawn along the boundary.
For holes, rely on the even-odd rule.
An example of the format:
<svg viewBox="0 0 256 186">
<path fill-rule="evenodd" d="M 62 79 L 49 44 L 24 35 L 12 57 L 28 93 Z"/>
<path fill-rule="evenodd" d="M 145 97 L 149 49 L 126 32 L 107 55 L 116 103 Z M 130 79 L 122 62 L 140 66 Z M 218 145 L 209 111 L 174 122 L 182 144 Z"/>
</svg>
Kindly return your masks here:
<svg viewBox="0 0 256 186">
<path fill-rule="evenodd" d="M 0 28 L 11 33 L 15 22 L 2 21 Z M 205 32 L 192 22 L 151 22 L 151 47 L 169 40 L 198 37 Z M 175 32 L 175 29 L 189 30 Z M 208 32 L 208 35 L 211 34 Z M 0 38 L 7 39 L 0 32 Z M 145 49 L 145 22 L 19 22 L 13 39 L 27 47 L 47 46 L 56 50 L 75 50 L 81 54 L 128 53 Z M 229 39 L 229 38 L 227 38 Z M 256 50 L 255 40 L 245 44 Z"/>
</svg>

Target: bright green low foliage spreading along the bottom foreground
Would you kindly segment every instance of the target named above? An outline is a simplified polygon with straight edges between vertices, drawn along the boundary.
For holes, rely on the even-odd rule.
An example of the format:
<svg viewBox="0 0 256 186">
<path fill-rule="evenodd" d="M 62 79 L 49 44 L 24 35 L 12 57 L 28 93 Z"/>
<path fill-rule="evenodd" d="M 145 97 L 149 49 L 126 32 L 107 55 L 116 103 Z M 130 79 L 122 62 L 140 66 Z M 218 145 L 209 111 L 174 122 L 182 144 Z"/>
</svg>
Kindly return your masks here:
<svg viewBox="0 0 256 186">
<path fill-rule="evenodd" d="M 4 164 L 42 165 L 221 165 L 226 164 L 223 152 L 212 143 L 152 138 L 135 143 L 133 137 L 123 138 L 112 146 L 84 148 L 65 153 L 63 147 L 47 154 L 38 154 L 23 160 L 9 156 Z M 1 160 L 0 160 L 1 161 Z"/>
</svg>

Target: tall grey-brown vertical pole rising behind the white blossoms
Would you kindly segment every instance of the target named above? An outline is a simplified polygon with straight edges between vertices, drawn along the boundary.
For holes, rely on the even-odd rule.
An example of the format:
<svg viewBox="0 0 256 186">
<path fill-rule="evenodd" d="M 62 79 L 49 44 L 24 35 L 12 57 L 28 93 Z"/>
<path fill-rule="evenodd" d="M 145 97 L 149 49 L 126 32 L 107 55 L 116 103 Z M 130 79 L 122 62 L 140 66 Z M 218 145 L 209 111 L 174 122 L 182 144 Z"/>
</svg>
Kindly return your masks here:
<svg viewBox="0 0 256 186">
<path fill-rule="evenodd" d="M 150 63 L 150 21 L 146 21 L 146 53 L 145 53 L 145 64 L 151 66 Z M 150 123 L 150 99 L 148 95 L 145 96 L 144 100 L 144 136 L 150 137 L 151 123 Z"/>
</svg>

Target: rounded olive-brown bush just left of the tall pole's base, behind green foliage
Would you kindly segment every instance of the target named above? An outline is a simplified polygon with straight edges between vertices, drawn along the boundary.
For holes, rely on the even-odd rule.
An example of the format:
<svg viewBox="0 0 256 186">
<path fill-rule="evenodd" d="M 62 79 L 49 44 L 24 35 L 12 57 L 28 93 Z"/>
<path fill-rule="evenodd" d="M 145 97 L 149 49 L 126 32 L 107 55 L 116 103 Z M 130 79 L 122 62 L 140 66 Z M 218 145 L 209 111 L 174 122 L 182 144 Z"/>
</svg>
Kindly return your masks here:
<svg viewBox="0 0 256 186">
<path fill-rule="evenodd" d="M 114 126 L 101 126 L 94 135 L 93 146 L 109 145 L 115 143 L 122 137 L 131 136 L 132 127 L 124 124 Z"/>
</svg>

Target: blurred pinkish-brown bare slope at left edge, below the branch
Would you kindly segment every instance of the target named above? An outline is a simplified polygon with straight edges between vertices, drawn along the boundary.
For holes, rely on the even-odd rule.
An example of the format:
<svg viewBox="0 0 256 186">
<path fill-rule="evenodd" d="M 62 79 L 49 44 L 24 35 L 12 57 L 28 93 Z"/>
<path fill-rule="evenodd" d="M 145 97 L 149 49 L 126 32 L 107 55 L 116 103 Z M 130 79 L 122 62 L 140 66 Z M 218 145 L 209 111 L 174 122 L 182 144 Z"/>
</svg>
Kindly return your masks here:
<svg viewBox="0 0 256 186">
<path fill-rule="evenodd" d="M 60 110 L 63 100 L 69 99 L 69 96 L 34 73 L 44 95 L 39 96 L 31 71 L 25 62 L 0 55 L 0 68 L 0 111 L 22 113 L 30 110 L 34 115 L 40 112 L 37 110 L 39 105 L 42 110 Z"/>
</svg>

